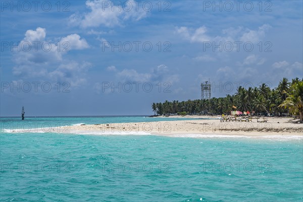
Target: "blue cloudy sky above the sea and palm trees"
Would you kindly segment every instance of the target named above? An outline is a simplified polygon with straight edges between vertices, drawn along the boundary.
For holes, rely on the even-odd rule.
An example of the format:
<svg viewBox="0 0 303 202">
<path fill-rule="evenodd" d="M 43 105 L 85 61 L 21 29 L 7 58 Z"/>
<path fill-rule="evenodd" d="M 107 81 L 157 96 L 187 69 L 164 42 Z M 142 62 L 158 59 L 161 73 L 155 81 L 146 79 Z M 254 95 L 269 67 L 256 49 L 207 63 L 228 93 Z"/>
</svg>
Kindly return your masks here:
<svg viewBox="0 0 303 202">
<path fill-rule="evenodd" d="M 200 98 L 209 79 L 219 97 L 302 78 L 302 10 L 302 1 L 2 1 L 0 115 L 22 106 L 27 116 L 147 115 L 153 102 Z"/>
</svg>

